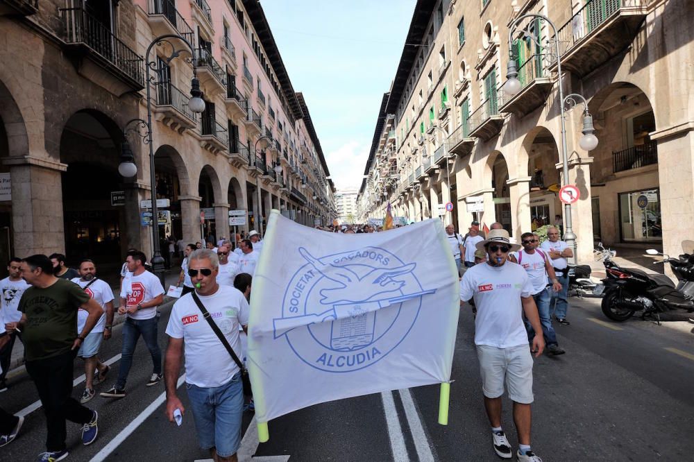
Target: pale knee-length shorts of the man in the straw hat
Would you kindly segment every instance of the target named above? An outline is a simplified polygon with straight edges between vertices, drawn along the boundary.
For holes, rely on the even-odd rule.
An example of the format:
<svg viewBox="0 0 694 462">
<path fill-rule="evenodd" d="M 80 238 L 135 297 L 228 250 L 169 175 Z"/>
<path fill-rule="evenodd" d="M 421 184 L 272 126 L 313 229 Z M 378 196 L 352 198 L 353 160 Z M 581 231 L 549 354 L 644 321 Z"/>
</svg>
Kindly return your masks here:
<svg viewBox="0 0 694 462">
<path fill-rule="evenodd" d="M 532 354 L 528 345 L 510 348 L 477 345 L 477 359 L 480 360 L 484 396 L 500 397 L 506 382 L 511 400 L 532 403 Z"/>
</svg>

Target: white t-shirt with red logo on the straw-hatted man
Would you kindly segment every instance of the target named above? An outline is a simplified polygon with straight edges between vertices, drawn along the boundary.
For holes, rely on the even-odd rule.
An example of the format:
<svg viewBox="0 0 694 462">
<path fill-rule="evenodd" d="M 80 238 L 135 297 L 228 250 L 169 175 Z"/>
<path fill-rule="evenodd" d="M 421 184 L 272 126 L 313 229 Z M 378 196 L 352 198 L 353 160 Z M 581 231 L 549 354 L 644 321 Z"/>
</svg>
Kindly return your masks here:
<svg viewBox="0 0 694 462">
<path fill-rule="evenodd" d="M 530 277 L 520 265 L 481 263 L 469 268 L 460 281 L 460 300 L 475 300 L 475 345 L 527 345 L 521 297 L 530 297 L 532 291 Z"/>
</svg>

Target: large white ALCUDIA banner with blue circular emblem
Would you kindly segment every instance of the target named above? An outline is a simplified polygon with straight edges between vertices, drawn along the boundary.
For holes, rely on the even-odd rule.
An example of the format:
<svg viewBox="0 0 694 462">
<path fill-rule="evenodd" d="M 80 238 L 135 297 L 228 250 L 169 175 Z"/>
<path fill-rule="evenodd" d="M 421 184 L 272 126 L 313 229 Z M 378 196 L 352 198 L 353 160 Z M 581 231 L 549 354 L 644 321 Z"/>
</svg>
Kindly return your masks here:
<svg viewBox="0 0 694 462">
<path fill-rule="evenodd" d="M 458 277 L 439 219 L 340 234 L 273 210 L 252 290 L 248 368 L 258 422 L 450 380 Z"/>
</svg>

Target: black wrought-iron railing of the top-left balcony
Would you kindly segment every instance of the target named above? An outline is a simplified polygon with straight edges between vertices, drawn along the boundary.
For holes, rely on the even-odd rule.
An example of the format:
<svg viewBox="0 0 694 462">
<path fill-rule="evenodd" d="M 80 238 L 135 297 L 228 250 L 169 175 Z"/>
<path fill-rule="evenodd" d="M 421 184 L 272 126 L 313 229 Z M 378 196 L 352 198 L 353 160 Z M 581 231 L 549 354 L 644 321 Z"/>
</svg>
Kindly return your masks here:
<svg viewBox="0 0 694 462">
<path fill-rule="evenodd" d="M 83 8 L 61 8 L 65 42 L 85 44 L 110 65 L 144 87 L 144 59 Z"/>
</svg>

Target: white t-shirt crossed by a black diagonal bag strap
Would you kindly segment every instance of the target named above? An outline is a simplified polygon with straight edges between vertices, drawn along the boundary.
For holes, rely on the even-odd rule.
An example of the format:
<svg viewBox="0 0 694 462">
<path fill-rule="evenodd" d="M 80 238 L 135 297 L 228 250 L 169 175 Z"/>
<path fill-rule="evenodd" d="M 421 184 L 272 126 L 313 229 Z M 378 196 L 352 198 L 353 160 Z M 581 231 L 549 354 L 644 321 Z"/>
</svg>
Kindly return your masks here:
<svg viewBox="0 0 694 462">
<path fill-rule="evenodd" d="M 219 286 L 211 296 L 199 297 L 237 357 L 243 361 L 239 327 L 248 324 L 250 311 L 244 294 L 235 287 Z M 222 386 L 239 372 L 239 366 L 203 318 L 192 294 L 187 293 L 174 303 L 167 334 L 184 341 L 187 383 L 203 388 Z"/>
</svg>

